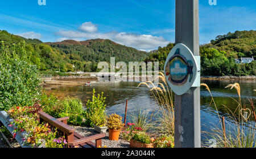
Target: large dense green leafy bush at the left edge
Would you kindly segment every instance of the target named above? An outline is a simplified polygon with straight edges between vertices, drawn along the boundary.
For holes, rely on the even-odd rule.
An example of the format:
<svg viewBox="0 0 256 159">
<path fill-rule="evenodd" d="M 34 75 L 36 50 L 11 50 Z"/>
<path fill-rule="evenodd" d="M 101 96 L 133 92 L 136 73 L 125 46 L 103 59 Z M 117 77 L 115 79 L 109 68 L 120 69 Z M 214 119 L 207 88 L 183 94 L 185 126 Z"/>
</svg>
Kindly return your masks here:
<svg viewBox="0 0 256 159">
<path fill-rule="evenodd" d="M 3 44 L 0 46 L 0 109 L 11 106 L 32 105 L 40 94 L 40 76 L 36 66 L 24 58 L 24 46 L 13 51 Z"/>
</svg>

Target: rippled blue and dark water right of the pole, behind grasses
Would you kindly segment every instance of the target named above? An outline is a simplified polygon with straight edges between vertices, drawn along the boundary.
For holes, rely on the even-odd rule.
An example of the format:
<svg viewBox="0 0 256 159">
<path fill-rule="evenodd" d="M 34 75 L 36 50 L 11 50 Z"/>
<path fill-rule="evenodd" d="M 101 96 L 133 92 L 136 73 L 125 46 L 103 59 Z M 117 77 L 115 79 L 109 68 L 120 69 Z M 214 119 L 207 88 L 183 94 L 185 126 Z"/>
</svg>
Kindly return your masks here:
<svg viewBox="0 0 256 159">
<path fill-rule="evenodd" d="M 255 91 L 256 81 L 234 81 L 234 80 L 201 80 L 201 83 L 205 83 L 209 86 L 214 101 L 216 103 L 218 113 L 220 116 L 228 117 L 228 113 L 236 111 L 238 107 L 238 94 L 236 89 L 225 88 L 229 84 L 239 83 L 241 87 L 241 100 L 242 104 L 246 105 L 246 108 L 251 110 L 248 98 L 253 98 L 255 101 Z M 216 108 L 210 97 L 210 93 L 201 87 L 201 130 L 210 132 L 211 128 L 219 127 L 221 128 L 220 119 L 218 119 Z M 237 111 L 236 111 L 237 112 Z M 234 114 L 238 117 L 238 113 Z M 254 119 L 250 118 L 250 121 Z M 226 124 L 232 126 L 233 121 L 226 118 Z M 254 122 L 253 122 L 254 123 Z M 246 123 L 249 125 L 250 123 Z M 204 140 L 205 136 L 202 136 Z M 209 136 L 208 136 L 209 137 Z"/>
</svg>

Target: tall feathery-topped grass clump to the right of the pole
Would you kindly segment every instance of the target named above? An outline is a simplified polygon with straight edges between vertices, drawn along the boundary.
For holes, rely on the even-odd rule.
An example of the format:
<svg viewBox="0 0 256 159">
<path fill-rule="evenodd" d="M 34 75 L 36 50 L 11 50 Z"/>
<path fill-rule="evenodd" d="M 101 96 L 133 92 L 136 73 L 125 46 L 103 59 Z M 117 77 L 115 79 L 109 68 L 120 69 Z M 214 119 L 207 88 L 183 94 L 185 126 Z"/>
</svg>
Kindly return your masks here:
<svg viewBox="0 0 256 159">
<path fill-rule="evenodd" d="M 204 86 L 207 88 L 208 92 L 210 93 L 210 89 L 207 84 L 201 84 L 201 86 Z M 225 147 L 225 148 L 251 148 L 256 147 L 255 145 L 255 127 L 256 124 L 253 122 L 247 122 L 249 123 L 249 126 L 245 125 L 245 118 L 243 117 L 243 114 L 241 113 L 243 111 L 246 111 L 248 109 L 242 108 L 242 99 L 241 99 L 241 88 L 240 84 L 234 83 L 229 84 L 225 88 L 230 89 L 236 89 L 238 94 L 238 101 L 232 98 L 237 102 L 237 108 L 234 111 L 231 111 L 223 105 L 228 110 L 228 115 L 225 117 L 228 119 L 229 123 L 226 122 L 226 126 L 224 126 L 225 122 L 221 122 L 220 114 L 218 113 L 217 106 L 214 102 L 213 96 L 210 93 L 210 96 L 212 97 L 212 101 L 214 103 L 214 106 L 216 108 L 218 118 L 220 119 L 221 128 L 213 128 L 212 132 L 206 132 L 208 136 L 212 137 L 212 139 L 216 140 L 217 147 Z M 236 114 L 238 114 L 238 119 Z M 249 116 L 251 113 L 249 114 Z M 249 117 L 248 117 L 249 118 Z M 245 120 L 245 121 L 244 121 Z M 226 127 L 226 130 L 224 129 Z"/>
</svg>

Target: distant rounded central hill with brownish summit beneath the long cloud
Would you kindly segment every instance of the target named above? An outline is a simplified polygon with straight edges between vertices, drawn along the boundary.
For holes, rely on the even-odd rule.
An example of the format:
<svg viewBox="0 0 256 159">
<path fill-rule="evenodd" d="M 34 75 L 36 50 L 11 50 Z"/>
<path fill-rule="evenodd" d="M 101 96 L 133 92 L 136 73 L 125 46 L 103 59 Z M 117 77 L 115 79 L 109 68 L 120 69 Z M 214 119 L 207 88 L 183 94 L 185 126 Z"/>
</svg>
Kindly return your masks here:
<svg viewBox="0 0 256 159">
<path fill-rule="evenodd" d="M 83 61 L 110 62 L 110 57 L 115 57 L 115 61 L 142 61 L 148 55 L 144 51 L 99 38 L 86 41 L 64 40 L 46 44 L 70 54 L 73 59 Z"/>
</svg>

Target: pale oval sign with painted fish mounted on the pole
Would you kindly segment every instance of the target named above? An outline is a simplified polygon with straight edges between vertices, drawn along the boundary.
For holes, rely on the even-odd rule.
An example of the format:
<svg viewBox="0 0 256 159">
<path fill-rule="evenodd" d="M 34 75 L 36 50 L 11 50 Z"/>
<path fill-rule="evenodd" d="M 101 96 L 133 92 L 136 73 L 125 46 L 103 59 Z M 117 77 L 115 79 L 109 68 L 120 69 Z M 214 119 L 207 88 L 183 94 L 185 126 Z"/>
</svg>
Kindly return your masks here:
<svg viewBox="0 0 256 159">
<path fill-rule="evenodd" d="M 191 50 L 184 44 L 172 48 L 164 65 L 164 75 L 168 85 L 177 95 L 186 93 L 197 76 L 197 63 Z"/>
</svg>

